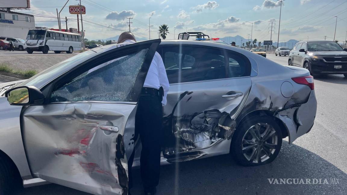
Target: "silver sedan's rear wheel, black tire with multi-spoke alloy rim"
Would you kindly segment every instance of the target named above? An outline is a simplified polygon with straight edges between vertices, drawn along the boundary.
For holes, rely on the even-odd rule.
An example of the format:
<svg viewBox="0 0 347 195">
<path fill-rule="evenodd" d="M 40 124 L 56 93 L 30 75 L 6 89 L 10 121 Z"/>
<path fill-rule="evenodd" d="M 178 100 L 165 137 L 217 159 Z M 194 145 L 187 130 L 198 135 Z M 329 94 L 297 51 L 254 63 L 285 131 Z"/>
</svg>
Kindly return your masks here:
<svg viewBox="0 0 347 195">
<path fill-rule="evenodd" d="M 269 116 L 253 116 L 236 129 L 231 153 L 242 166 L 259 166 L 275 160 L 281 145 L 282 133 L 278 124 Z"/>
</svg>

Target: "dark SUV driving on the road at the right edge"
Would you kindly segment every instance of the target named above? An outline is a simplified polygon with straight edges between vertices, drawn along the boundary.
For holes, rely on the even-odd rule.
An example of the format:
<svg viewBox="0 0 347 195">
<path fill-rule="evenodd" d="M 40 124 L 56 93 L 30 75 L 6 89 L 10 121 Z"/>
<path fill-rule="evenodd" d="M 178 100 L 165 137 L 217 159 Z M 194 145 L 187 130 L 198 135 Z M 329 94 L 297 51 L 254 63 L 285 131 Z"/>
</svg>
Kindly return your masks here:
<svg viewBox="0 0 347 195">
<path fill-rule="evenodd" d="M 299 42 L 289 53 L 288 65 L 306 68 L 311 75 L 343 74 L 347 77 L 346 51 L 334 41 Z"/>
</svg>

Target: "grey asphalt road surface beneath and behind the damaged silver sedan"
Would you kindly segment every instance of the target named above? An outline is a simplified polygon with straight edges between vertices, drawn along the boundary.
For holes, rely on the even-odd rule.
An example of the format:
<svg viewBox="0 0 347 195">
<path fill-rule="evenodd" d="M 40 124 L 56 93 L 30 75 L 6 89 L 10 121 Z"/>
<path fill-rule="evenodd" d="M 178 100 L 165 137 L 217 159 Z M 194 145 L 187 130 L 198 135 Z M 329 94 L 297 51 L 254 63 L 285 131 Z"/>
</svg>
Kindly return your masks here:
<svg viewBox="0 0 347 195">
<path fill-rule="evenodd" d="M 288 57 L 268 58 L 286 65 Z M 277 159 L 258 167 L 241 167 L 229 156 L 215 156 L 161 168 L 160 194 L 316 195 L 347 193 L 347 79 L 341 75 L 315 78 L 318 101 L 310 133 L 293 144 L 286 138 Z M 270 184 L 268 179 L 327 179 L 329 184 Z M 335 181 L 335 182 L 332 182 Z M 139 169 L 132 194 L 142 194 Z M 50 184 L 20 190 L 18 195 L 87 195 Z"/>
</svg>

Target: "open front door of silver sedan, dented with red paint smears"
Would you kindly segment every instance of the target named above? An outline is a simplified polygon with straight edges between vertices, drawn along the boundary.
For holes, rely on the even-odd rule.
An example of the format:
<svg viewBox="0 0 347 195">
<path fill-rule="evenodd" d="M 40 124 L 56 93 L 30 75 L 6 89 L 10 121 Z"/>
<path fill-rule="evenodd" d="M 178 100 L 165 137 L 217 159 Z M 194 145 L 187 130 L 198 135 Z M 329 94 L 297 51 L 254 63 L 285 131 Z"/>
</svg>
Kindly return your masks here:
<svg viewBox="0 0 347 195">
<path fill-rule="evenodd" d="M 76 65 L 23 108 L 33 176 L 91 194 L 127 194 L 138 95 L 160 40 L 121 46 Z"/>
</svg>

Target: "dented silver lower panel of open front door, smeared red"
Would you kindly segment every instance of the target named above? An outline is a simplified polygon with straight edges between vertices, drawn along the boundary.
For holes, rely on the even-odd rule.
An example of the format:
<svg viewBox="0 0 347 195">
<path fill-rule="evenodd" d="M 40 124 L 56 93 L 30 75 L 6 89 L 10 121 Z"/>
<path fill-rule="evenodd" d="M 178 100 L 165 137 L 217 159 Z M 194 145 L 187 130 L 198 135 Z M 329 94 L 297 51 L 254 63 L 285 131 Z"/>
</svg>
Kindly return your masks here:
<svg viewBox="0 0 347 195">
<path fill-rule="evenodd" d="M 127 194 L 127 153 L 133 150 L 134 134 L 127 121 L 135 116 L 135 107 L 116 103 L 28 107 L 23 135 L 33 174 L 92 194 Z"/>
</svg>

